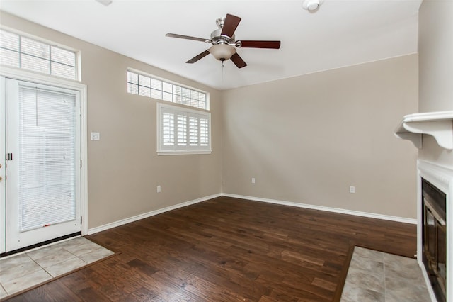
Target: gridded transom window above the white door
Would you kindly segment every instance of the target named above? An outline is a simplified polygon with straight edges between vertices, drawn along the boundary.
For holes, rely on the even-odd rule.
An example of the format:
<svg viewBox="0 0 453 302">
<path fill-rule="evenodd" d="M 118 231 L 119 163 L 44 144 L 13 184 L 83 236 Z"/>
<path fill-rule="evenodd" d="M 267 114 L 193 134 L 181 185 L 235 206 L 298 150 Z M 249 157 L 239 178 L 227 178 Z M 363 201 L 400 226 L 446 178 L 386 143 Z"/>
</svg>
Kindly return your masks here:
<svg viewBox="0 0 453 302">
<path fill-rule="evenodd" d="M 77 79 L 76 52 L 0 29 L 0 64 Z"/>
</svg>

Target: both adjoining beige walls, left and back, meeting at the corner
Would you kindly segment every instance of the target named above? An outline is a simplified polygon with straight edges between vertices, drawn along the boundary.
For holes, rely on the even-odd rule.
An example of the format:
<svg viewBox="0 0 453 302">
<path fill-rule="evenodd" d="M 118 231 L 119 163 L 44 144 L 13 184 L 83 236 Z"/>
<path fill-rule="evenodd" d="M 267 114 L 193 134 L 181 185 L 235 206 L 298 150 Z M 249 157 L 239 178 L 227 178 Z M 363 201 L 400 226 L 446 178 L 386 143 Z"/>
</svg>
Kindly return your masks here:
<svg viewBox="0 0 453 302">
<path fill-rule="evenodd" d="M 415 218 L 417 151 L 393 131 L 418 111 L 417 55 L 216 91 L 0 13 L 81 50 L 88 133 L 101 133 L 88 141 L 88 228 L 222 191 Z M 126 93 L 127 67 L 210 92 L 212 155 L 156 155 L 156 100 Z"/>
</svg>

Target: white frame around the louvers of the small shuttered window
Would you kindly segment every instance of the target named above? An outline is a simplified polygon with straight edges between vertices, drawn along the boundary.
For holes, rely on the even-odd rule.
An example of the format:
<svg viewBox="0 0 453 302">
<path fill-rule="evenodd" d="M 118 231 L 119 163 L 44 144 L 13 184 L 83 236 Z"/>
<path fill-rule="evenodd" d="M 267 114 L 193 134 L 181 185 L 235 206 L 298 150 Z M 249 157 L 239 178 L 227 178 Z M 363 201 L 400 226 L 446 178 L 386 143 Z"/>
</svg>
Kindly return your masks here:
<svg viewBox="0 0 453 302">
<path fill-rule="evenodd" d="M 164 103 L 165 102 L 165 103 Z M 197 145 L 196 147 L 190 147 L 186 146 L 185 149 L 182 147 L 178 147 L 177 145 L 177 129 L 175 128 L 174 132 L 175 133 L 175 142 L 173 147 L 164 147 L 163 145 L 163 135 L 162 135 L 162 121 L 161 121 L 161 116 L 162 116 L 162 111 L 171 111 L 173 114 L 177 113 L 184 113 L 186 116 L 190 116 L 192 114 L 193 116 L 203 116 L 207 118 L 208 124 L 207 124 L 207 129 L 208 129 L 208 144 L 207 146 L 203 147 L 200 145 Z M 211 154 L 212 153 L 212 142 L 211 142 L 211 113 L 209 111 L 204 111 L 202 109 L 193 109 L 192 107 L 189 106 L 183 106 L 183 105 L 174 105 L 171 103 L 168 103 L 166 101 L 158 101 L 156 102 L 156 153 L 157 155 L 197 155 L 197 154 Z M 189 132 L 189 130 L 188 130 Z M 200 132 L 200 129 L 198 130 Z"/>
</svg>

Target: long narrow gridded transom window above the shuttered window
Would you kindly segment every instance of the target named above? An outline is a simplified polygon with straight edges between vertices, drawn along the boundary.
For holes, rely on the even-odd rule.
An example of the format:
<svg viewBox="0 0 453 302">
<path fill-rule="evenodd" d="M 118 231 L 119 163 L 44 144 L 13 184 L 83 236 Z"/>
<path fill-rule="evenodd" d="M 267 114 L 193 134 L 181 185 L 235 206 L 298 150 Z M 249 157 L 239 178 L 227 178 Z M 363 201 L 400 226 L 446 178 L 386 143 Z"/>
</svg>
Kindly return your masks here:
<svg viewBox="0 0 453 302">
<path fill-rule="evenodd" d="M 209 109 L 206 92 L 172 84 L 131 70 L 127 70 L 127 92 L 195 108 Z"/>
</svg>

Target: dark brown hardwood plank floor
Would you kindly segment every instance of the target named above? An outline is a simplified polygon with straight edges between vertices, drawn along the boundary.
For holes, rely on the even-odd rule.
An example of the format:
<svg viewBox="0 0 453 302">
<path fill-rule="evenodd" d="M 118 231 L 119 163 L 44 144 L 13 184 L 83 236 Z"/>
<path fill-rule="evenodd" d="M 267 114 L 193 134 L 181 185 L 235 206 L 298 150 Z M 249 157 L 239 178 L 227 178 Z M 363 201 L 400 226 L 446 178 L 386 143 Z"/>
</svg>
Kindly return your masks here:
<svg viewBox="0 0 453 302">
<path fill-rule="evenodd" d="M 416 250 L 415 225 L 227 197 L 88 238 L 120 254 L 10 301 L 333 301 L 352 245 Z"/>
</svg>

